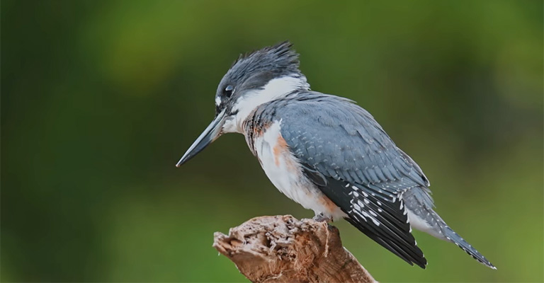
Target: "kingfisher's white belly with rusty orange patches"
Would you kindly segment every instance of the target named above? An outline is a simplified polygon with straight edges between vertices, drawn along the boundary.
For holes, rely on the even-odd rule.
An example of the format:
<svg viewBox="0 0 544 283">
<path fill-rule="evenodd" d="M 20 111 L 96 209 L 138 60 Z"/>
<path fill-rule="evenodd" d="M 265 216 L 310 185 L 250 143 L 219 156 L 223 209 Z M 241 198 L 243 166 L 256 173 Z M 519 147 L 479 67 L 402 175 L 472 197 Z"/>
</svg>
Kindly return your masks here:
<svg viewBox="0 0 544 283">
<path fill-rule="evenodd" d="M 256 137 L 254 148 L 268 179 L 291 200 L 333 219 L 346 216 L 301 171 L 300 164 L 290 153 L 280 134 L 281 121 L 273 122 L 261 137 Z"/>
</svg>

